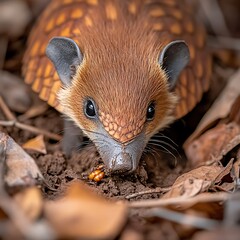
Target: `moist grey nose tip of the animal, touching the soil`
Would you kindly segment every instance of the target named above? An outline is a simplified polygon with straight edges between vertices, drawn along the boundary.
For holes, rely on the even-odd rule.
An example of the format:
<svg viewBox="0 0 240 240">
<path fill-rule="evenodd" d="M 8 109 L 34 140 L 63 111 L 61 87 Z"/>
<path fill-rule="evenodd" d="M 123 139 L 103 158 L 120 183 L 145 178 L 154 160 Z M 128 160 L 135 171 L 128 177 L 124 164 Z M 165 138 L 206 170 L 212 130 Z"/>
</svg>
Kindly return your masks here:
<svg viewBox="0 0 240 240">
<path fill-rule="evenodd" d="M 120 153 L 112 159 L 112 172 L 127 173 L 133 168 L 132 157 L 129 153 Z"/>
</svg>

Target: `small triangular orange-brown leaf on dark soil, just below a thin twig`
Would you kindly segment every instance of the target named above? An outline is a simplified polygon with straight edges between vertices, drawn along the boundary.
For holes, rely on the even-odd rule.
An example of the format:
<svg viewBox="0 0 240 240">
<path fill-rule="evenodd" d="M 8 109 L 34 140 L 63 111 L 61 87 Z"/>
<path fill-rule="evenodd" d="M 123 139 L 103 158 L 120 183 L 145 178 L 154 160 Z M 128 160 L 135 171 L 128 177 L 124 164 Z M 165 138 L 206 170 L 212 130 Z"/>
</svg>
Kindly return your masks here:
<svg viewBox="0 0 240 240">
<path fill-rule="evenodd" d="M 28 140 L 22 145 L 24 149 L 33 150 L 39 153 L 47 154 L 46 145 L 43 135 L 38 135 L 35 138 Z"/>
</svg>

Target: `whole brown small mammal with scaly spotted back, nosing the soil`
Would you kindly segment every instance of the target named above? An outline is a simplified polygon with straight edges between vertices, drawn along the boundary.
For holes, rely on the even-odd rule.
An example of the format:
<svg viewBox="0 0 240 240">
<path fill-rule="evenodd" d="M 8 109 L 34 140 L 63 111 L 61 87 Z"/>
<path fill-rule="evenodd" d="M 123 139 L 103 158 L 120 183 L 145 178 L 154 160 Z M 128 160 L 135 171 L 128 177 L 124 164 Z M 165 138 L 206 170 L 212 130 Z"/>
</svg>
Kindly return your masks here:
<svg viewBox="0 0 240 240">
<path fill-rule="evenodd" d="M 107 168 L 132 172 L 149 139 L 193 109 L 211 72 L 193 15 L 179 0 L 50 2 L 31 32 L 23 74 L 72 120 L 66 153 L 85 134 Z"/>
</svg>

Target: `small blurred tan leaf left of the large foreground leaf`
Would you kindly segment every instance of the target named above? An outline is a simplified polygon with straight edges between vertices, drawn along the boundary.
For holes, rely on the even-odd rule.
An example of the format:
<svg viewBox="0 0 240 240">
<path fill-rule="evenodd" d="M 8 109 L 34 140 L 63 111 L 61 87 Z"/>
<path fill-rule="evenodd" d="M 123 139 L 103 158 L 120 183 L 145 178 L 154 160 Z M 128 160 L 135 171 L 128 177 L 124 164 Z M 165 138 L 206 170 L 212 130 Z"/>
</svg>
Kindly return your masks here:
<svg viewBox="0 0 240 240">
<path fill-rule="evenodd" d="M 43 208 L 43 199 L 39 188 L 27 188 L 17 193 L 14 199 L 30 221 L 39 218 Z"/>
</svg>

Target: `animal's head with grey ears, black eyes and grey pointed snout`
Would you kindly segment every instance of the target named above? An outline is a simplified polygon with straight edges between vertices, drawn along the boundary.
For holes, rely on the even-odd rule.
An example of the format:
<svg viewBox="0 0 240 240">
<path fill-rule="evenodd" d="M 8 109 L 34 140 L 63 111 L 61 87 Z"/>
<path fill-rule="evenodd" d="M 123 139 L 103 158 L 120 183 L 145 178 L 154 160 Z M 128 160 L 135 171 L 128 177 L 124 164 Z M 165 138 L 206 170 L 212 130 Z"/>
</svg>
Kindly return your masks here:
<svg viewBox="0 0 240 240">
<path fill-rule="evenodd" d="M 73 40 L 56 37 L 47 56 L 63 83 L 59 100 L 65 113 L 110 170 L 131 172 L 150 137 L 173 119 L 171 90 L 189 61 L 188 47 L 173 41 L 151 54 L 136 46 L 99 49 L 94 56 Z"/>
</svg>

